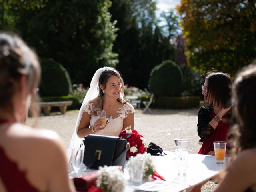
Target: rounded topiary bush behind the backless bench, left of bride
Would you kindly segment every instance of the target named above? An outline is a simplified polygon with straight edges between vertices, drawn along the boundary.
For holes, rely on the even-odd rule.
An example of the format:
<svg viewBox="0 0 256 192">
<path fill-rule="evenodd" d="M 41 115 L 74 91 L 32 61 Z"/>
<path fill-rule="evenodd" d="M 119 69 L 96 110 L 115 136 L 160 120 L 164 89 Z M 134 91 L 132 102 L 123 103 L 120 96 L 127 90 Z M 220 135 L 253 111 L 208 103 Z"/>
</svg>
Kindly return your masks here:
<svg viewBox="0 0 256 192">
<path fill-rule="evenodd" d="M 71 80 L 67 70 L 53 59 L 43 59 L 40 96 L 62 96 L 71 91 Z"/>
</svg>

